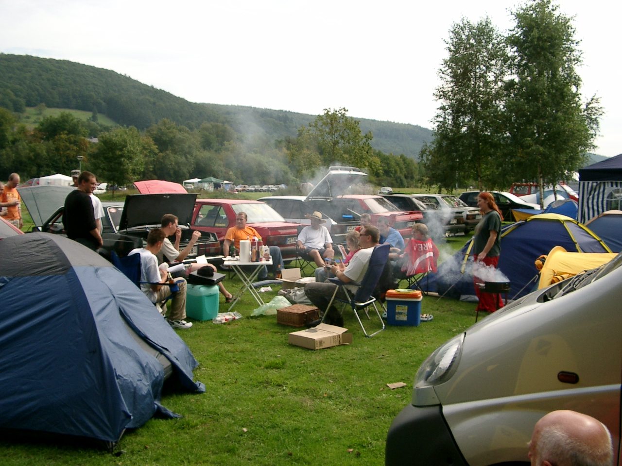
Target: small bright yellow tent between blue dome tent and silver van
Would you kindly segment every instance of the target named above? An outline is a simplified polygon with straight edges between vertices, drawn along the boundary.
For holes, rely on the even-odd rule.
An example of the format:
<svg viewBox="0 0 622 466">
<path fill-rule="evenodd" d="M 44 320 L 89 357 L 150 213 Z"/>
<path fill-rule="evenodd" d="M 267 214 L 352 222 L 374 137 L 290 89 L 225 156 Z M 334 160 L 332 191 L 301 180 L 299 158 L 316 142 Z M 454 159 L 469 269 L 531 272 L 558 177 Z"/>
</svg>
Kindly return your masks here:
<svg viewBox="0 0 622 466">
<path fill-rule="evenodd" d="M 589 252 L 568 252 L 561 246 L 555 246 L 547 254 L 542 270 L 540 271 L 540 281 L 538 290 L 546 288 L 554 283 L 554 277 L 559 276 L 564 280 L 572 275 L 592 270 L 600 267 L 616 257 L 617 254 L 610 252 L 589 253 Z"/>
</svg>

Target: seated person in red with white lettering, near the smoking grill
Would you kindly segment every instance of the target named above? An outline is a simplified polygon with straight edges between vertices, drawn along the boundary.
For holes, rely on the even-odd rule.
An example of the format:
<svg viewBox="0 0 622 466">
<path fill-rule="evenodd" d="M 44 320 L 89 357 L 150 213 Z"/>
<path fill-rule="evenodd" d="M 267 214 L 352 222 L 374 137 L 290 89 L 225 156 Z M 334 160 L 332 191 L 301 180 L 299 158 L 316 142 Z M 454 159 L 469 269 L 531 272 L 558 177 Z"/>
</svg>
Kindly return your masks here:
<svg viewBox="0 0 622 466">
<path fill-rule="evenodd" d="M 424 223 L 412 226 L 412 237 L 406 244 L 404 253 L 396 261 L 396 276 L 410 279 L 420 273 L 437 272 L 439 249 L 428 236 L 428 228 Z M 416 283 L 416 281 L 415 281 Z"/>
</svg>

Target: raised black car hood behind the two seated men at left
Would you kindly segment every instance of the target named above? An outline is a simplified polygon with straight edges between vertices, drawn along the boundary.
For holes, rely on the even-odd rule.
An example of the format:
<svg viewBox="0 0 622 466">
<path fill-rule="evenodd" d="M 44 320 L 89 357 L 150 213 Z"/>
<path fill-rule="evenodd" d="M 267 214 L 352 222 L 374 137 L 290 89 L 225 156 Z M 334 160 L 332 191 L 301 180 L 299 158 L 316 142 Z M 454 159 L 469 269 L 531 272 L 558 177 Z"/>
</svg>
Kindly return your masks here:
<svg viewBox="0 0 622 466">
<path fill-rule="evenodd" d="M 131 194 L 125 198 L 119 230 L 160 226 L 164 214 L 179 218 L 180 225 L 190 225 L 197 194 Z"/>
</svg>

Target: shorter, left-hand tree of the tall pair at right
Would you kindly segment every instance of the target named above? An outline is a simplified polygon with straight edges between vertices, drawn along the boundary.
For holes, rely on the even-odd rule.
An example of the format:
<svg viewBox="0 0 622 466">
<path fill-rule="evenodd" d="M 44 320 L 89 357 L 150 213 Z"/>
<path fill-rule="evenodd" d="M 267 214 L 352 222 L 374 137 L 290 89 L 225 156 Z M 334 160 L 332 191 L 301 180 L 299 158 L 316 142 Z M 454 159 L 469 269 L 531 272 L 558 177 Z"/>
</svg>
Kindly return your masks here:
<svg viewBox="0 0 622 466">
<path fill-rule="evenodd" d="M 495 163 L 503 147 L 503 85 L 508 54 L 503 37 L 485 18 L 453 25 L 448 58 L 435 91 L 440 107 L 434 139 L 420 152 L 427 183 L 451 191 L 477 180 L 495 185 Z"/>
</svg>

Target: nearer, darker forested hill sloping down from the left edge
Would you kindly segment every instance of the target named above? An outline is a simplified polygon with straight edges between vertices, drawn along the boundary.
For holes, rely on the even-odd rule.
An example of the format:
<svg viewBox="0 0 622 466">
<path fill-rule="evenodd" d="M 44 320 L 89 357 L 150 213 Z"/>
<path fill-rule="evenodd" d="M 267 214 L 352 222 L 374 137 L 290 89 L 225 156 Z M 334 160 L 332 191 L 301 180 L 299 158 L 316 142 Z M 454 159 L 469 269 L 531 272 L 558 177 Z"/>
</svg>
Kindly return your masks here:
<svg viewBox="0 0 622 466">
<path fill-rule="evenodd" d="M 0 106 L 93 111 L 125 126 L 145 129 L 163 118 L 188 126 L 224 122 L 209 107 L 190 103 L 128 76 L 67 60 L 0 54 Z"/>
</svg>

